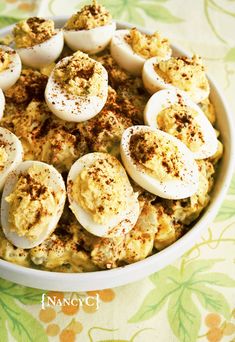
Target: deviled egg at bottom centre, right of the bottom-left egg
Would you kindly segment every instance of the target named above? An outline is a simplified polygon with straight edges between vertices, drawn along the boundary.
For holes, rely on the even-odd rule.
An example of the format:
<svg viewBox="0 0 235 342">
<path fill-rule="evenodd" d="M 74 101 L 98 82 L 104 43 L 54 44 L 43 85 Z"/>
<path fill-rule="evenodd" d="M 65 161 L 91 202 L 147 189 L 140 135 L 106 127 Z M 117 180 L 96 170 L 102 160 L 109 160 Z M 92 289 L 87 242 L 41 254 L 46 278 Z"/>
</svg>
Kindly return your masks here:
<svg viewBox="0 0 235 342">
<path fill-rule="evenodd" d="M 79 158 L 68 174 L 70 208 L 90 233 L 114 237 L 126 234 L 139 216 L 139 202 L 121 163 L 108 153 Z"/>
</svg>

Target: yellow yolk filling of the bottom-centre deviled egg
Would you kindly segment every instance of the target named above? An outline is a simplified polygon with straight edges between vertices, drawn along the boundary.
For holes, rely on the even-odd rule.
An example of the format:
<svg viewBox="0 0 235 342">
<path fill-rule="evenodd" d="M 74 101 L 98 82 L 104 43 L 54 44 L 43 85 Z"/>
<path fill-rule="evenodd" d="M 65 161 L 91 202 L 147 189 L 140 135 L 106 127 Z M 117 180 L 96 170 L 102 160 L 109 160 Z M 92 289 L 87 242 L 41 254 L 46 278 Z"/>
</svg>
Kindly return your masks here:
<svg viewBox="0 0 235 342">
<path fill-rule="evenodd" d="M 130 187 L 120 162 L 113 156 L 85 167 L 72 185 L 72 197 L 97 223 L 109 222 L 127 207 L 124 189 Z"/>
</svg>

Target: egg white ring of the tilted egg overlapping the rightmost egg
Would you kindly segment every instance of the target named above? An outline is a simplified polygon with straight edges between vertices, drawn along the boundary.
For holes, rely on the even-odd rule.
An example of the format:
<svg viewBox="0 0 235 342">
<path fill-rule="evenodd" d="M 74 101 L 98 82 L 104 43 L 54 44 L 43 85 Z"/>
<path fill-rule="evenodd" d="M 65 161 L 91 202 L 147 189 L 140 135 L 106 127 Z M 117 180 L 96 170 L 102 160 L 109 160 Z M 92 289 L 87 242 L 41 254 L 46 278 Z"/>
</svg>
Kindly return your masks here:
<svg viewBox="0 0 235 342">
<path fill-rule="evenodd" d="M 130 154 L 130 139 L 135 133 L 152 132 L 162 139 L 177 146 L 181 153 L 181 161 L 184 165 L 182 179 L 161 181 L 144 172 L 143 168 L 136 165 Z M 161 130 L 148 126 L 132 126 L 127 128 L 121 139 L 121 158 L 125 169 L 130 177 L 142 188 L 162 198 L 182 199 L 192 196 L 198 189 L 199 174 L 198 167 L 191 151 L 180 140 Z"/>
</svg>

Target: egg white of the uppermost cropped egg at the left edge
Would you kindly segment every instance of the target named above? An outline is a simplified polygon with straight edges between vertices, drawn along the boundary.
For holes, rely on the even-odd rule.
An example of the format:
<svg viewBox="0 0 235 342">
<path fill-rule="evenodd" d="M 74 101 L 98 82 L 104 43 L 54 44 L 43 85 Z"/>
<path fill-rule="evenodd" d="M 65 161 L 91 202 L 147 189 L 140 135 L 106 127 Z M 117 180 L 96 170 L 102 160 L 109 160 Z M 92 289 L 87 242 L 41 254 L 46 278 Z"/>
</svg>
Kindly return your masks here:
<svg viewBox="0 0 235 342">
<path fill-rule="evenodd" d="M 14 50 L 6 45 L 0 45 L 0 49 L 4 51 L 13 52 Z M 0 72 L 0 88 L 5 91 L 13 86 L 21 73 L 21 59 L 18 53 L 15 51 L 14 54 L 10 55 L 10 63 L 6 70 Z"/>
</svg>

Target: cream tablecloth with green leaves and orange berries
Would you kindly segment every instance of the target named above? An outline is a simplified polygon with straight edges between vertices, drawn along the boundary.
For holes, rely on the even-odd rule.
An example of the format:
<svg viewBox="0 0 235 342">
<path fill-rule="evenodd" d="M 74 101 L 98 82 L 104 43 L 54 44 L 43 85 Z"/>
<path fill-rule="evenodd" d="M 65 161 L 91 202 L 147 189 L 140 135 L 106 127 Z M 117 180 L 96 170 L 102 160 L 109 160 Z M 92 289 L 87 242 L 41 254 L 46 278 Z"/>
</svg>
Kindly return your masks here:
<svg viewBox="0 0 235 342">
<path fill-rule="evenodd" d="M 100 0 L 113 16 L 162 31 L 200 54 L 235 108 L 234 0 Z M 0 1 L 0 27 L 71 14 L 87 1 Z M 142 281 L 89 293 L 46 293 L 0 279 L 0 341 L 235 341 L 235 177 L 215 222 L 180 260 Z M 99 307 L 63 305 L 99 295 Z M 69 302 L 69 301 L 68 301 Z"/>
</svg>

